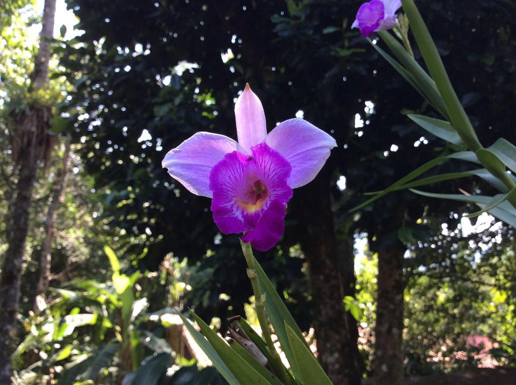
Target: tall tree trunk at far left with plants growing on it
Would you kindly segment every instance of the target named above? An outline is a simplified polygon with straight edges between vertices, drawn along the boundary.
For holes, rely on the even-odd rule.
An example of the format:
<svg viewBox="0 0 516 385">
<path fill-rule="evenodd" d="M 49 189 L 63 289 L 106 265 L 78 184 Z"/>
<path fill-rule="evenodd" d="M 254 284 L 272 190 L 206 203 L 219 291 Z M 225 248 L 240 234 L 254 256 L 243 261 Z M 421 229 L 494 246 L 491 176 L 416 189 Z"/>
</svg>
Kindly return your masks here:
<svg viewBox="0 0 516 385">
<path fill-rule="evenodd" d="M 54 29 L 56 0 L 45 0 L 40 49 L 35 58 L 29 91 L 43 88 L 49 76 L 49 44 Z M 16 332 L 16 314 L 20 299 L 25 241 L 29 227 L 29 208 L 36 179 L 38 160 L 49 153 L 49 107 L 29 107 L 12 116 L 12 155 L 19 168 L 8 233 L 8 247 L 0 277 L 0 384 L 11 383 L 12 353 Z"/>
</svg>

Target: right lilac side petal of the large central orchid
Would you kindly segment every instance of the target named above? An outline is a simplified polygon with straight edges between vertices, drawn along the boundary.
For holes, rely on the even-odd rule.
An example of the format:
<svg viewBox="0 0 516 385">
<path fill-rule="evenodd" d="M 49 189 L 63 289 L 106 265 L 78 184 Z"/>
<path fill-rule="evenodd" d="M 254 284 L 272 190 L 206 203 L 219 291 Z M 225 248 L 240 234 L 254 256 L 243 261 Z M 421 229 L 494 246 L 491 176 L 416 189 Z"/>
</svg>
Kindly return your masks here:
<svg viewBox="0 0 516 385">
<path fill-rule="evenodd" d="M 315 178 L 336 147 L 335 139 L 302 119 L 290 119 L 270 131 L 265 139 L 292 166 L 288 185 L 293 189 Z"/>
</svg>

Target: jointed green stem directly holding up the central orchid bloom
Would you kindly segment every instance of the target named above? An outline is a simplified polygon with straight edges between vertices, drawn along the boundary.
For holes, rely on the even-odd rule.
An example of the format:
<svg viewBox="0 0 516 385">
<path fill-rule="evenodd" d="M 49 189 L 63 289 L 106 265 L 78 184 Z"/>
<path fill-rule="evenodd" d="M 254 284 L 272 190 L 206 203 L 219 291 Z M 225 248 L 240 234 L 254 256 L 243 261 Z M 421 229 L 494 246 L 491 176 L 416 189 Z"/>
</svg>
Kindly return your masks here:
<svg viewBox="0 0 516 385">
<path fill-rule="evenodd" d="M 265 315 L 265 294 L 262 294 L 260 289 L 260 282 L 258 281 L 258 275 L 256 274 L 256 269 L 254 267 L 253 250 L 251 248 L 251 244 L 244 243 L 240 240 L 240 245 L 242 246 L 242 251 L 244 252 L 244 257 L 246 258 L 247 276 L 251 280 L 251 285 L 253 287 L 256 316 L 258 317 L 258 322 L 262 328 L 262 333 L 265 339 L 265 343 L 267 344 L 267 349 L 269 350 L 269 354 L 272 358 L 271 364 L 280 376 L 281 381 L 287 385 L 292 385 L 290 377 L 288 377 L 286 373 L 285 366 L 283 366 L 281 358 L 276 351 L 270 336 L 269 323 L 267 322 L 267 316 Z"/>
</svg>

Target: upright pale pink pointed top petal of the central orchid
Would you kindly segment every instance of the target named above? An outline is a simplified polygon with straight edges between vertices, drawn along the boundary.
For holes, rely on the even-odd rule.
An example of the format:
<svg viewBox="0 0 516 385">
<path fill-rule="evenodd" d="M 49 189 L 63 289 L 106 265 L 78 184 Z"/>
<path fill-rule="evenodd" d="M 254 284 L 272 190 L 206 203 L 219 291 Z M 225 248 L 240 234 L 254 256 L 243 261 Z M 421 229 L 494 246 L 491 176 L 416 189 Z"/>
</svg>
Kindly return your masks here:
<svg viewBox="0 0 516 385">
<path fill-rule="evenodd" d="M 262 143 L 267 136 L 267 126 L 262 102 L 248 84 L 236 101 L 235 119 L 238 143 L 246 154 L 251 154 L 251 147 Z"/>
</svg>

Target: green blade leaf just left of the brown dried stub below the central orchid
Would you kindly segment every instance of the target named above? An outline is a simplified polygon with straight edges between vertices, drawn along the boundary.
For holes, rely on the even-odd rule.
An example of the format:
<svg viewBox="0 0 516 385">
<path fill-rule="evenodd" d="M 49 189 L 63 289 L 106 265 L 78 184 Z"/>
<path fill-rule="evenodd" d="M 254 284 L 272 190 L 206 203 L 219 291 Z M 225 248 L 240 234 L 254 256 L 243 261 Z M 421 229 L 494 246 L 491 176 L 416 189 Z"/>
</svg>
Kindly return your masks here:
<svg viewBox="0 0 516 385">
<path fill-rule="evenodd" d="M 197 325 L 201 328 L 204 337 L 209 344 L 217 351 L 220 358 L 228 366 L 231 373 L 235 375 L 242 385 L 270 384 L 275 377 L 268 372 L 267 378 L 257 372 L 246 360 L 240 357 L 222 338 L 220 338 L 196 313 L 191 312 Z"/>
</svg>

